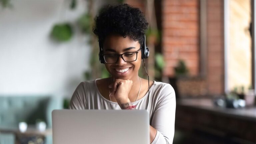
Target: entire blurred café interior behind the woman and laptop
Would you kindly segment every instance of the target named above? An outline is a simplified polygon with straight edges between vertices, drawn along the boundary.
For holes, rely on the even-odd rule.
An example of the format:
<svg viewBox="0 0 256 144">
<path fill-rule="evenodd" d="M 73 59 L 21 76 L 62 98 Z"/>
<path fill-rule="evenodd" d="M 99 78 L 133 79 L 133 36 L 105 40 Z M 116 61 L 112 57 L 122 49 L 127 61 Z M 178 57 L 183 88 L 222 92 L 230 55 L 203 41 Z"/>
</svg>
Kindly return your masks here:
<svg viewBox="0 0 256 144">
<path fill-rule="evenodd" d="M 256 143 L 254 0 L 0 0 L 0 144 L 51 144 L 51 111 L 109 76 L 92 26 L 112 3 L 149 22 L 150 80 L 176 92 L 174 144 Z"/>
</svg>

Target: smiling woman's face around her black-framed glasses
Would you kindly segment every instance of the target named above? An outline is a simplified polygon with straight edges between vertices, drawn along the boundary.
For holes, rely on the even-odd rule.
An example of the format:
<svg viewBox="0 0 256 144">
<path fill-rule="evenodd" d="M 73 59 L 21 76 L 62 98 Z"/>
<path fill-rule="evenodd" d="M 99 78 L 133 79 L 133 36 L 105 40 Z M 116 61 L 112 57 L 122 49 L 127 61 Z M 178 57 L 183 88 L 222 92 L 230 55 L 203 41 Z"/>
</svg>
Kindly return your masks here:
<svg viewBox="0 0 256 144">
<path fill-rule="evenodd" d="M 109 35 L 103 43 L 103 54 L 123 54 L 136 52 L 140 49 L 139 41 L 133 41 L 130 37 Z M 123 55 L 124 57 L 125 55 Z M 126 60 L 127 61 L 127 60 Z M 137 54 L 137 60 L 125 62 L 120 56 L 116 63 L 105 63 L 106 69 L 115 79 L 132 79 L 138 76 L 141 64 L 141 50 Z M 128 70 L 127 70 L 128 69 Z"/>
</svg>

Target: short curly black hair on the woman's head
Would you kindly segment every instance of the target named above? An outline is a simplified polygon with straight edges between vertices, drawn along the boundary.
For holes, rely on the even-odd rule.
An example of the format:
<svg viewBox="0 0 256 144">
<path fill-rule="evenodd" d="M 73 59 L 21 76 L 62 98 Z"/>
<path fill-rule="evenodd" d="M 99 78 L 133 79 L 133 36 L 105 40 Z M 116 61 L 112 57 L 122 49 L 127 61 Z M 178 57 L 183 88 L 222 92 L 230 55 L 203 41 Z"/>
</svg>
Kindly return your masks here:
<svg viewBox="0 0 256 144">
<path fill-rule="evenodd" d="M 128 4 L 106 5 L 94 21 L 93 32 L 101 42 L 110 34 L 119 34 L 139 41 L 142 46 L 148 27 L 144 13 Z"/>
</svg>

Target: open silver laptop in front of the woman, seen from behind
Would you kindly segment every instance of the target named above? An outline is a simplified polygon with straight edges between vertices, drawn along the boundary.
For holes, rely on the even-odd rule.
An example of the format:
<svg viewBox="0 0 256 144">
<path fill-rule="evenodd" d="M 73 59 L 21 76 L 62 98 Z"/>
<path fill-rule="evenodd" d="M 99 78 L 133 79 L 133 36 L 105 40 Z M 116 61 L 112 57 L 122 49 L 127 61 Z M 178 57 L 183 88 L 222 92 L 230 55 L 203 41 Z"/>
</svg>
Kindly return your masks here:
<svg viewBox="0 0 256 144">
<path fill-rule="evenodd" d="M 149 144 L 146 110 L 53 110 L 53 144 Z"/>
</svg>

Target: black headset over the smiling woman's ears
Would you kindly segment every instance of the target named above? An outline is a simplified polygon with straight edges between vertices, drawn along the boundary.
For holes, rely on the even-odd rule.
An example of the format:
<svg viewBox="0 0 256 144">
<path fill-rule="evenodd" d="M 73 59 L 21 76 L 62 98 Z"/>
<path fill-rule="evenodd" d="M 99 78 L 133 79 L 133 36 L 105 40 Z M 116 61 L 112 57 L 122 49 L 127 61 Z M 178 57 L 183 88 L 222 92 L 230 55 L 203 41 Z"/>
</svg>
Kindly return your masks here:
<svg viewBox="0 0 256 144">
<path fill-rule="evenodd" d="M 99 52 L 99 60 L 100 63 L 105 63 L 104 61 L 104 57 L 103 57 L 103 44 L 102 42 L 99 40 L 99 47 L 100 47 L 100 52 Z M 149 56 L 149 49 L 146 46 L 146 36 L 144 35 L 144 40 L 143 40 L 143 45 L 141 47 L 141 59 L 146 59 Z"/>
</svg>

